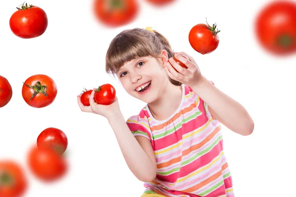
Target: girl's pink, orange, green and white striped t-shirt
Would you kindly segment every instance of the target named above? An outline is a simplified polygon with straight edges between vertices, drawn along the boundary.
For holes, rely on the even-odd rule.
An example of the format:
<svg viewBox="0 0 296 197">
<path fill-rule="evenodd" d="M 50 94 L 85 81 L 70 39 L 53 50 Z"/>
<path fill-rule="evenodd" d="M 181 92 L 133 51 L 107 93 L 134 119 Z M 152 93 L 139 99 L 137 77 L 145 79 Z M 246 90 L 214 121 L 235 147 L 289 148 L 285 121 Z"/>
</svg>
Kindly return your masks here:
<svg viewBox="0 0 296 197">
<path fill-rule="evenodd" d="M 155 120 L 147 105 L 127 120 L 134 136 L 151 141 L 156 158 L 157 175 L 145 182 L 145 193 L 234 197 L 220 122 L 190 87 L 182 85 L 182 89 L 181 104 L 168 119 Z"/>
</svg>

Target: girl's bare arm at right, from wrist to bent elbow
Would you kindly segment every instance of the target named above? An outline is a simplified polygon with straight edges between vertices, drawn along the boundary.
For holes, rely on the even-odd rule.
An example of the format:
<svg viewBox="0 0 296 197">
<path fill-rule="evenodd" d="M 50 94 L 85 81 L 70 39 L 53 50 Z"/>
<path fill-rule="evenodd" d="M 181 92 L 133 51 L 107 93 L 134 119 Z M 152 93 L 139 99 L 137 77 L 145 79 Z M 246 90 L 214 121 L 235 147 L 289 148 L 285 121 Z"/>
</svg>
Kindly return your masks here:
<svg viewBox="0 0 296 197">
<path fill-rule="evenodd" d="M 241 135 L 250 135 L 253 132 L 254 122 L 247 110 L 222 93 L 204 76 L 191 88 L 208 104 L 210 113 L 229 130 Z"/>
</svg>

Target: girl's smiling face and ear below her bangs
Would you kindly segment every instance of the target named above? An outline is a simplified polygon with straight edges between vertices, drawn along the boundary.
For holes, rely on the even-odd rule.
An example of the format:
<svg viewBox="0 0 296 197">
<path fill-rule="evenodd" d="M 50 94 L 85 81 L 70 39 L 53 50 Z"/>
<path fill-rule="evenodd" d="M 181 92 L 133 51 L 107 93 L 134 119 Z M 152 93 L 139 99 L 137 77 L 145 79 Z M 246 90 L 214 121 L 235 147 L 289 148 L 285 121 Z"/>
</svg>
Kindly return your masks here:
<svg viewBox="0 0 296 197">
<path fill-rule="evenodd" d="M 146 103 L 161 96 L 169 82 L 164 66 L 168 61 L 166 51 L 160 61 L 150 56 L 125 63 L 116 73 L 125 91 Z"/>
</svg>

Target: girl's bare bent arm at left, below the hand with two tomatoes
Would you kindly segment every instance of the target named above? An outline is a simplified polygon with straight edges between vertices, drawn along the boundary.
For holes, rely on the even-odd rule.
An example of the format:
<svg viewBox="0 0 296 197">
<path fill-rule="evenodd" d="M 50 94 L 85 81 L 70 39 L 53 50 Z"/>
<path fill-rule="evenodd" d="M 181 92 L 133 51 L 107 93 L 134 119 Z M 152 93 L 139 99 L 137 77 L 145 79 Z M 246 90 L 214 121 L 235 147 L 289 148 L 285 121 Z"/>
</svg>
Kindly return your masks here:
<svg viewBox="0 0 296 197">
<path fill-rule="evenodd" d="M 156 177 L 156 161 L 151 142 L 143 136 L 134 136 L 121 113 L 108 118 L 126 164 L 133 174 L 143 182 Z"/>
</svg>

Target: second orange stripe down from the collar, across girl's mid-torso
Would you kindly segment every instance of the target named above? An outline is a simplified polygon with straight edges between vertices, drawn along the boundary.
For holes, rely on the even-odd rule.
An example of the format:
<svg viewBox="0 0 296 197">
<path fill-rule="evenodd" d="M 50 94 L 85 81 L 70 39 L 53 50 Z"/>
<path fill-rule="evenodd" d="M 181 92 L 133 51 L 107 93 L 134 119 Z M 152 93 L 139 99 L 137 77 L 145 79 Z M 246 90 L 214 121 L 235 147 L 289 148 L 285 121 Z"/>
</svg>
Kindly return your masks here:
<svg viewBox="0 0 296 197">
<path fill-rule="evenodd" d="M 163 167 L 168 167 L 171 164 L 175 164 L 181 161 L 182 157 L 188 155 L 189 153 L 191 153 L 194 150 L 197 150 L 199 148 L 201 148 L 203 145 L 205 145 L 208 141 L 210 141 L 218 132 L 219 132 L 219 128 L 216 128 L 210 135 L 208 135 L 203 141 L 201 141 L 198 144 L 195 144 L 194 146 L 190 146 L 188 149 L 184 150 L 182 152 L 182 156 L 174 158 L 170 161 L 161 163 L 161 164 L 157 164 L 157 168 L 163 168 Z"/>
</svg>

